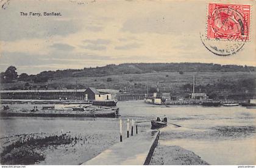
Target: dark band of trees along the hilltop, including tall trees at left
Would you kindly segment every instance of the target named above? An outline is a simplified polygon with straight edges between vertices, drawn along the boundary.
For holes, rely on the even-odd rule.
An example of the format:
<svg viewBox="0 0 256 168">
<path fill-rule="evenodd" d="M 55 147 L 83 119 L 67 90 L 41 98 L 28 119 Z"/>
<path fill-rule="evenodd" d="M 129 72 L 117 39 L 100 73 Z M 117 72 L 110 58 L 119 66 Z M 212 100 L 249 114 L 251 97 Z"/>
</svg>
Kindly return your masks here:
<svg viewBox="0 0 256 168">
<path fill-rule="evenodd" d="M 120 65 L 106 65 L 96 68 L 65 69 L 57 71 L 43 71 L 39 74 L 18 75 L 15 66 L 9 66 L 0 73 L 1 83 L 12 83 L 15 80 L 24 82 L 47 82 L 51 79 L 65 77 L 102 77 L 105 75 L 144 74 L 151 72 L 253 72 L 254 66 L 219 65 L 213 63 L 123 63 Z"/>
</svg>

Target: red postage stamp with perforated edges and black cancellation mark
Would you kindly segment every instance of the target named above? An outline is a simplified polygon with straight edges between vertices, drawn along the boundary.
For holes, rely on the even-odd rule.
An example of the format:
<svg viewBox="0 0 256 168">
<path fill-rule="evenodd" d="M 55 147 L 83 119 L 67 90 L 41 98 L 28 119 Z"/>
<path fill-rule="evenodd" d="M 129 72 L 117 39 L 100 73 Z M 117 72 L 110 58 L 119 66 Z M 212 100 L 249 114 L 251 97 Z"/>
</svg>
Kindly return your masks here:
<svg viewBox="0 0 256 168">
<path fill-rule="evenodd" d="M 251 5 L 208 4 L 207 38 L 249 40 Z"/>
</svg>

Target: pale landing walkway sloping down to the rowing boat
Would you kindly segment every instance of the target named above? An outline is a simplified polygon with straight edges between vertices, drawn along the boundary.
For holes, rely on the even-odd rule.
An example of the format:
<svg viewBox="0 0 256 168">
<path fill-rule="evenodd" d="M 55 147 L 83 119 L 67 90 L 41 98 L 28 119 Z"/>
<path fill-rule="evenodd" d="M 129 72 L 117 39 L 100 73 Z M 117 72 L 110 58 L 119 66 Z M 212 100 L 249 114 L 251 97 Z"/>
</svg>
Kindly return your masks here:
<svg viewBox="0 0 256 168">
<path fill-rule="evenodd" d="M 130 136 L 82 165 L 144 165 L 149 164 L 160 131 L 151 130 Z"/>
</svg>

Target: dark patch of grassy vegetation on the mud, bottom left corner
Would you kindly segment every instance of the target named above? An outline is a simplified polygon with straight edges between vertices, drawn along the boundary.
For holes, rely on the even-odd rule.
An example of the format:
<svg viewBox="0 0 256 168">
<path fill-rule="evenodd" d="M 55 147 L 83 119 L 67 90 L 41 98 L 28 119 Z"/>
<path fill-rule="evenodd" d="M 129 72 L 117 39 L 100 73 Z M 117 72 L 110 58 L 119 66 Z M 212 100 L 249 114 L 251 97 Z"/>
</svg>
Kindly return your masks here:
<svg viewBox="0 0 256 168">
<path fill-rule="evenodd" d="M 18 141 L 4 147 L 1 153 L 1 164 L 35 164 L 45 159 L 43 149 L 49 146 L 66 145 L 77 141 L 77 138 L 62 134 L 60 136 L 45 136 L 20 138 Z"/>
</svg>

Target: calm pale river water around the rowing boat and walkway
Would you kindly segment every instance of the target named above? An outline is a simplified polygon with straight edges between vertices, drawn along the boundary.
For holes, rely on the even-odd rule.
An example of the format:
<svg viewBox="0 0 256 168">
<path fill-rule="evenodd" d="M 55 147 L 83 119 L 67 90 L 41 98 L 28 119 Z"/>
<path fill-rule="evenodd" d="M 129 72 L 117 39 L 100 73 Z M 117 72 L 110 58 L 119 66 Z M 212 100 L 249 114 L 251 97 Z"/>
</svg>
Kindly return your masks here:
<svg viewBox="0 0 256 168">
<path fill-rule="evenodd" d="M 209 164 L 256 163 L 255 109 L 201 106 L 165 107 L 149 105 L 142 101 L 118 102 L 118 107 L 123 121 L 126 121 L 127 118 L 148 121 L 157 116 L 166 116 L 168 126 L 160 129 L 159 143 L 161 145 L 178 145 L 191 150 Z M 119 119 L 107 118 L 2 117 L 0 119 L 0 136 L 40 133 L 41 131 L 49 133 L 60 130 L 85 135 L 96 133 L 98 135 L 96 136 L 98 139 L 94 142 L 96 147 L 94 145 L 90 147 L 90 150 L 96 152 L 80 157 L 80 155 L 86 155 L 82 154 L 81 150 L 80 154 L 73 156 L 77 162 L 68 162 L 69 164 L 79 164 L 81 161 L 93 158 L 102 150 L 119 141 L 118 123 Z M 150 127 L 150 122 L 141 122 L 139 130 L 148 130 Z M 104 143 L 102 139 L 105 140 Z M 99 144 L 98 141 L 102 141 L 102 143 Z M 80 159 L 77 159 L 79 157 Z M 68 164 L 65 162 L 67 157 L 58 156 L 58 158 L 58 163 L 46 159 L 41 164 Z M 72 157 L 69 156 L 69 158 Z"/>
</svg>

